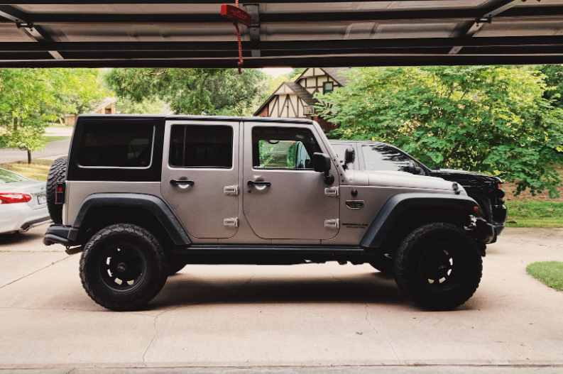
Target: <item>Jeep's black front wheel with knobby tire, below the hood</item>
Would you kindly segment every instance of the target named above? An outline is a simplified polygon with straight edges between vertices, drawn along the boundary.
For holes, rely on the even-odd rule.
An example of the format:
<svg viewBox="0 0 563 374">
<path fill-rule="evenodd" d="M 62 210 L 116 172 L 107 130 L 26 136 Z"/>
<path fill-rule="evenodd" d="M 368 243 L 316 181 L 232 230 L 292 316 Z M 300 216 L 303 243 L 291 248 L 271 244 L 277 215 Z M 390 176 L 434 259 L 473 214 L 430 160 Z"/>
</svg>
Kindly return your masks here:
<svg viewBox="0 0 563 374">
<path fill-rule="evenodd" d="M 474 238 L 452 224 L 426 224 L 405 238 L 395 258 L 395 282 L 429 309 L 453 309 L 477 290 L 483 273 Z"/>
</svg>

